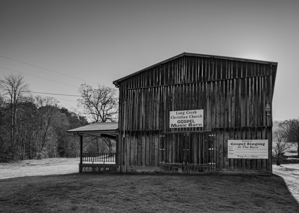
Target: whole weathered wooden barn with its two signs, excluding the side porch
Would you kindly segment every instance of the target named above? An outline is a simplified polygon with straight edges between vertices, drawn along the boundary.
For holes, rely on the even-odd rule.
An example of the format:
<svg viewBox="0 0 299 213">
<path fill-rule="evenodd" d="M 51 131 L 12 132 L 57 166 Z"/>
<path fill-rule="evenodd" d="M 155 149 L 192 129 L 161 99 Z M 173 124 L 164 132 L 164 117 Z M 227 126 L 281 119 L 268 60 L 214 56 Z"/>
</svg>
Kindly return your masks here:
<svg viewBox="0 0 299 213">
<path fill-rule="evenodd" d="M 276 71 L 182 53 L 114 81 L 119 171 L 271 175 Z"/>
</svg>

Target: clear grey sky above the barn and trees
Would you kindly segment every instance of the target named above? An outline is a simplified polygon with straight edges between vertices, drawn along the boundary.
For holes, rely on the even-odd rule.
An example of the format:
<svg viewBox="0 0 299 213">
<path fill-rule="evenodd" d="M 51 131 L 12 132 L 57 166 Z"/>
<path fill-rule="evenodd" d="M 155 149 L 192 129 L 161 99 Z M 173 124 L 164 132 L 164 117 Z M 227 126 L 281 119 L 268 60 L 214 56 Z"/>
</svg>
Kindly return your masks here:
<svg viewBox="0 0 299 213">
<path fill-rule="evenodd" d="M 115 88 L 183 52 L 274 61 L 273 121 L 298 118 L 298 10 L 295 0 L 0 0 L 0 78 L 21 72 L 32 94 L 71 110 L 79 97 L 65 95 L 80 84 Z"/>
</svg>

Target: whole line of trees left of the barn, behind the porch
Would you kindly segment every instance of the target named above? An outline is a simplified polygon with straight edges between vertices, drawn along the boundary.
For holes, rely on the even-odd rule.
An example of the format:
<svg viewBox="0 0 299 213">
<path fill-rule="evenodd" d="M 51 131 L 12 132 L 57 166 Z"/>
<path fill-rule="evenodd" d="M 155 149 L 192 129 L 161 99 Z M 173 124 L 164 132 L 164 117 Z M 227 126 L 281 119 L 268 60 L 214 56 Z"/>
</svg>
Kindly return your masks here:
<svg viewBox="0 0 299 213">
<path fill-rule="evenodd" d="M 0 162 L 52 157 L 78 157 L 80 138 L 67 130 L 89 123 L 115 121 L 116 90 L 82 84 L 77 112 L 61 107 L 55 98 L 28 94 L 22 75 L 0 81 Z M 109 139 L 86 137 L 86 152 L 112 152 Z"/>
</svg>

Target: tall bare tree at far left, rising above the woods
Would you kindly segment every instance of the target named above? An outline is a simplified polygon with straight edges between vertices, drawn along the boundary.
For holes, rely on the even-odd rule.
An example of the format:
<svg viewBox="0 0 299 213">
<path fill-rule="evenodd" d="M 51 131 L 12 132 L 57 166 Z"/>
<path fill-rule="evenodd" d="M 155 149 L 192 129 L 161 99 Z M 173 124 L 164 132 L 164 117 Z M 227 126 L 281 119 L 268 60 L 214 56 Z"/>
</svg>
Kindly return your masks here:
<svg viewBox="0 0 299 213">
<path fill-rule="evenodd" d="M 16 143 L 16 127 L 17 127 L 17 110 L 23 103 L 24 92 L 28 92 L 29 85 L 25 83 L 22 75 L 8 75 L 1 80 L 1 89 L 4 90 L 4 96 L 9 99 L 10 103 L 10 127 L 11 142 Z M 16 145 L 16 144 L 15 144 Z"/>
</svg>

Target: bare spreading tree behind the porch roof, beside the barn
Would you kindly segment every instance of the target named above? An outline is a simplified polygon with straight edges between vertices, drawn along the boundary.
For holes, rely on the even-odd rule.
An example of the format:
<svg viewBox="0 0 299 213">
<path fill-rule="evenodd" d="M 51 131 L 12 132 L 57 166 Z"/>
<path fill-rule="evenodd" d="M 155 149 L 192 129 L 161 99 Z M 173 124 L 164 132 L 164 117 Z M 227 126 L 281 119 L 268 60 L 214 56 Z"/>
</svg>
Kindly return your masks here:
<svg viewBox="0 0 299 213">
<path fill-rule="evenodd" d="M 77 101 L 78 107 L 83 109 L 83 113 L 88 115 L 92 123 L 110 122 L 118 119 L 118 98 L 116 89 L 98 85 L 97 89 L 87 84 L 81 84 L 78 89 L 82 98 Z M 104 143 L 112 152 L 112 141 L 103 138 Z"/>
</svg>

